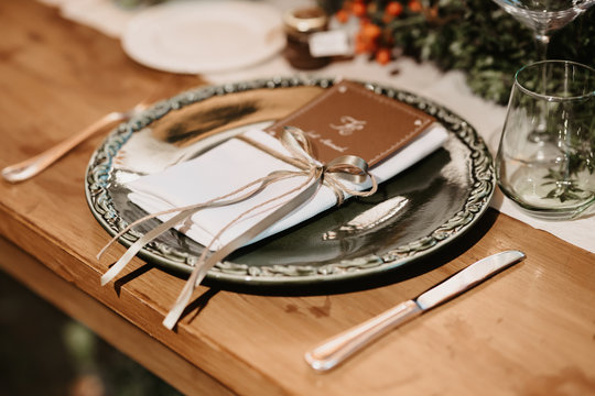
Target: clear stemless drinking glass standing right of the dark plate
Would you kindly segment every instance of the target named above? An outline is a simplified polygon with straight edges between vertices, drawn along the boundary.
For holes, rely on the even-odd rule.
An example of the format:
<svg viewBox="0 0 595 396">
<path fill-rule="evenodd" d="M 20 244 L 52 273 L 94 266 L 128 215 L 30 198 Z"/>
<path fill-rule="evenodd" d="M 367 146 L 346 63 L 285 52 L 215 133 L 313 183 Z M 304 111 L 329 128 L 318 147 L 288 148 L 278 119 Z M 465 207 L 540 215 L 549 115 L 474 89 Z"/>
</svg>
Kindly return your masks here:
<svg viewBox="0 0 595 396">
<path fill-rule="evenodd" d="M 529 138 L 538 124 L 548 139 Z M 517 72 L 496 177 L 534 217 L 572 219 L 595 202 L 595 69 L 542 61 Z"/>
</svg>

